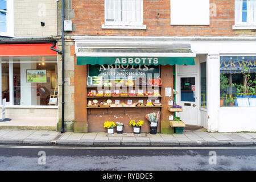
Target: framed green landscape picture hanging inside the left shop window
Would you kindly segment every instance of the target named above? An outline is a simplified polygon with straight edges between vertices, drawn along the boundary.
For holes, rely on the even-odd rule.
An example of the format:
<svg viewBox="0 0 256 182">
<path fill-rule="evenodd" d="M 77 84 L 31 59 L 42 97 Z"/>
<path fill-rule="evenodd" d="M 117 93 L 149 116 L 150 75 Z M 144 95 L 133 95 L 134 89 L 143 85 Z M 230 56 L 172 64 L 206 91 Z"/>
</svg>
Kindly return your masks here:
<svg viewBox="0 0 256 182">
<path fill-rule="evenodd" d="M 27 69 L 27 83 L 46 83 L 46 69 Z"/>
</svg>

